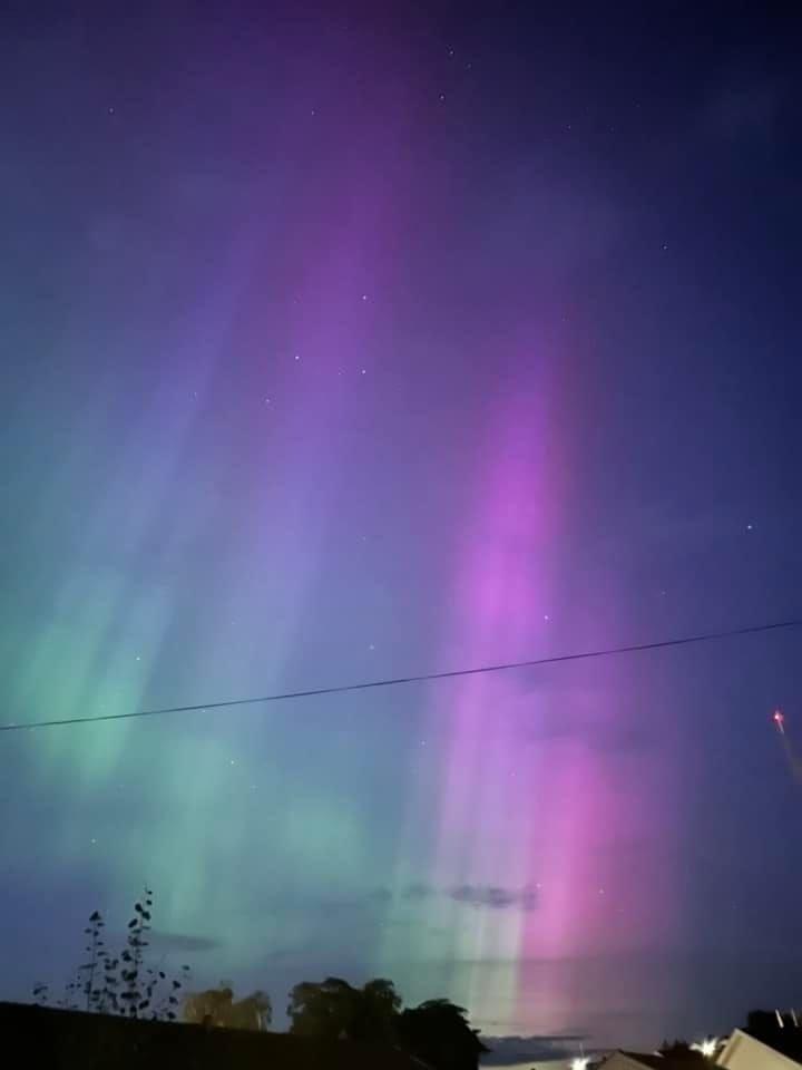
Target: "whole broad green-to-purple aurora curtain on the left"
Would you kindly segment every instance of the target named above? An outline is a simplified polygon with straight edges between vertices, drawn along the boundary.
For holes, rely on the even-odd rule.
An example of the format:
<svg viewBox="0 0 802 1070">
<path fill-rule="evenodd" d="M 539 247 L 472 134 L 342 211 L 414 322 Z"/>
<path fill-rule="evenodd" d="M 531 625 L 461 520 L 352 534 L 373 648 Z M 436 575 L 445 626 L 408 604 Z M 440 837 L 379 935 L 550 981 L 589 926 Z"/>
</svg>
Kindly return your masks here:
<svg viewBox="0 0 802 1070">
<path fill-rule="evenodd" d="M 342 211 L 313 216 L 270 256 L 264 230 L 236 227 L 173 312 L 159 359 L 94 383 L 32 509 L 51 523 L 86 486 L 36 645 L 7 652 L 23 665 L 18 720 L 334 677 L 299 664 L 299 651 L 332 572 L 350 429 L 376 371 L 381 249 L 398 222 L 358 160 L 330 189 Z M 307 938 L 309 915 L 288 898 L 314 913 L 320 889 L 361 894 L 376 878 L 370 823 L 341 788 L 348 771 L 332 788 L 314 770 L 301 778 L 303 753 L 293 766 L 303 717 L 218 711 L 40 733 L 26 762 L 30 792 L 58 800 L 45 837 L 53 865 L 92 874 L 100 905 L 118 909 L 147 881 L 159 924 L 219 943 L 224 970 L 247 970 L 274 937 Z M 25 839 L 16 847 L 30 857 Z"/>
</svg>

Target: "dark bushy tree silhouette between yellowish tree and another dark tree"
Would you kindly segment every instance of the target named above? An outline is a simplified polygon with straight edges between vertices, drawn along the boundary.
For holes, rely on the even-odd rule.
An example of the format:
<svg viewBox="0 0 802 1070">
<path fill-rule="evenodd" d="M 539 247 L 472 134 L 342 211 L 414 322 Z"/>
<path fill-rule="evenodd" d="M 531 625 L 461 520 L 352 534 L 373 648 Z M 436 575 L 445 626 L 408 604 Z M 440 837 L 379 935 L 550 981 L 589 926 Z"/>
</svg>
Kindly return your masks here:
<svg viewBox="0 0 802 1070">
<path fill-rule="evenodd" d="M 290 993 L 290 1032 L 321 1040 L 392 1043 L 401 1006 L 392 981 L 376 979 L 361 989 L 340 977 L 296 984 Z"/>
</svg>

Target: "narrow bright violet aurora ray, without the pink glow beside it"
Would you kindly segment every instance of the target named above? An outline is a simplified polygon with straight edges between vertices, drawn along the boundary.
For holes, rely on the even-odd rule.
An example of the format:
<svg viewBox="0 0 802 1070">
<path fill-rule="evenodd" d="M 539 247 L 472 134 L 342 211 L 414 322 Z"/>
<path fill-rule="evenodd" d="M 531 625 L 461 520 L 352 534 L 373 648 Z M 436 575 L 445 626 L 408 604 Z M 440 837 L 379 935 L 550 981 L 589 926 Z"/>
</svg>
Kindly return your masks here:
<svg viewBox="0 0 802 1070">
<path fill-rule="evenodd" d="M 555 526 L 550 481 L 555 431 L 549 399 L 521 389 L 505 397 L 491 420 L 485 463 L 477 473 L 477 507 L 466 524 L 458 556 L 449 652 L 468 664 L 518 656 L 548 615 L 551 601 L 546 557 Z M 547 444 L 549 448 L 547 449 Z M 531 648 L 530 648 L 531 649 Z M 503 653 L 508 652 L 508 653 Z M 510 654 L 509 652 L 515 652 Z M 512 674 L 461 681 L 436 717 L 450 724 L 442 777 L 438 881 L 457 891 L 501 887 L 538 895 L 538 874 L 521 849 L 537 815 L 532 784 L 538 771 L 521 761 L 526 706 Z M 456 959 L 496 960 L 507 966 L 475 971 L 469 1000 L 505 1005 L 516 994 L 522 944 L 519 911 L 471 908 L 458 902 Z"/>
</svg>

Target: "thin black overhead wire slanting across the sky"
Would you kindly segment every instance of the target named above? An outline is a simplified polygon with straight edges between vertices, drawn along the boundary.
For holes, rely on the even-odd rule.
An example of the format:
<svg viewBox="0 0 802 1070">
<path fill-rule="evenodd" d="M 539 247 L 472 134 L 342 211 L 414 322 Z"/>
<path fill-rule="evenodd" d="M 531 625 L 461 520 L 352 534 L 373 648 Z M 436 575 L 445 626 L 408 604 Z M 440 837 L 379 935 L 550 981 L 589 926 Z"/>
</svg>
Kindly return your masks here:
<svg viewBox="0 0 802 1070">
<path fill-rule="evenodd" d="M 33 728 L 59 728 L 65 724 L 95 724 L 99 721 L 129 721 L 141 717 L 162 717 L 164 713 L 200 713 L 234 706 L 256 706 L 260 702 L 284 702 L 290 699 L 312 699 L 326 694 L 346 694 L 350 691 L 369 691 L 374 688 L 398 688 L 405 683 L 427 683 L 431 680 L 454 680 L 458 677 L 478 677 L 487 672 L 507 672 L 510 669 L 536 669 L 539 665 L 557 665 L 567 661 L 589 661 L 591 658 L 612 658 L 616 654 L 638 654 L 648 650 L 665 650 L 669 646 L 691 646 L 713 640 L 735 639 L 740 635 L 756 635 L 760 632 L 779 632 L 802 628 L 802 620 L 775 621 L 772 624 L 754 624 L 751 628 L 733 628 L 722 632 L 703 632 L 700 635 L 683 635 L 679 639 L 662 639 L 652 643 L 633 643 L 628 646 L 607 646 L 603 650 L 584 650 L 573 654 L 555 654 L 550 658 L 534 658 L 529 661 L 508 661 L 498 665 L 478 665 L 473 669 L 450 669 L 446 672 L 424 672 L 413 677 L 390 677 L 385 680 L 368 680 L 362 683 L 342 683 L 329 688 L 309 688 L 304 691 L 281 691 L 248 699 L 225 699 L 219 702 L 196 702 L 193 706 L 167 706 L 155 710 L 133 710 L 130 713 L 98 713 L 92 717 L 63 717 L 50 721 L 29 721 L 25 724 L 0 724 L 0 732 L 21 732 Z"/>
</svg>

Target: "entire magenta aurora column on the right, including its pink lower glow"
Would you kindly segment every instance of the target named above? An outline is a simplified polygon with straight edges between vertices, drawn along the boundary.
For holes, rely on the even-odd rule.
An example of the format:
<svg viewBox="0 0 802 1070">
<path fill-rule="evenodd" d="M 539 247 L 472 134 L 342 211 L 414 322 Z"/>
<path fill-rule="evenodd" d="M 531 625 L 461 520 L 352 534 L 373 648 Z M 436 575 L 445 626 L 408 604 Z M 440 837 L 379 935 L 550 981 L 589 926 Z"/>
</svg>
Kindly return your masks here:
<svg viewBox="0 0 802 1070">
<path fill-rule="evenodd" d="M 604 614 L 567 606 L 563 593 L 570 398 L 556 380 L 510 395 L 497 406 L 473 475 L 477 505 L 456 555 L 447 665 L 599 642 Z M 560 615 L 574 623 L 573 634 Z M 444 953 L 457 973 L 461 964 L 462 998 L 479 1014 L 493 1008 L 501 1030 L 568 1027 L 580 1005 L 571 971 L 550 971 L 544 993 L 534 964 L 627 954 L 675 927 L 665 845 L 649 847 L 659 887 L 651 887 L 648 870 L 625 878 L 619 869 L 657 813 L 648 776 L 624 770 L 632 797 L 640 807 L 646 799 L 633 813 L 619 763 L 594 747 L 595 738 L 624 728 L 630 682 L 612 662 L 568 669 L 473 677 L 432 699 L 432 731 L 448 726 L 434 884 L 450 899 L 432 916 L 450 934 Z M 662 782 L 671 782 L 666 768 Z"/>
</svg>

